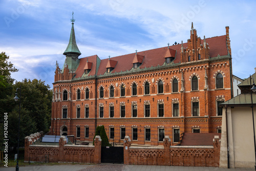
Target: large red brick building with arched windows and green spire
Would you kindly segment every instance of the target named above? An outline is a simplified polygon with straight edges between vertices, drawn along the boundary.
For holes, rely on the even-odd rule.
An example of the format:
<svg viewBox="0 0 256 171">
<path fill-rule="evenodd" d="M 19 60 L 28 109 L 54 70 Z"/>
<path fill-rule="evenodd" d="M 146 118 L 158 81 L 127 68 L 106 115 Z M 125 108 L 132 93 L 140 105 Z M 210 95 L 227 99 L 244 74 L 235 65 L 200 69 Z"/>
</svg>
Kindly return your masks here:
<svg viewBox="0 0 256 171">
<path fill-rule="evenodd" d="M 73 21 L 74 22 L 74 21 Z M 182 133 L 220 133 L 218 104 L 232 97 L 229 28 L 201 39 L 190 30 L 186 43 L 100 59 L 78 58 L 72 23 L 62 70 L 56 62 L 52 135 L 93 141 L 104 125 L 110 142 L 172 145 Z"/>
</svg>

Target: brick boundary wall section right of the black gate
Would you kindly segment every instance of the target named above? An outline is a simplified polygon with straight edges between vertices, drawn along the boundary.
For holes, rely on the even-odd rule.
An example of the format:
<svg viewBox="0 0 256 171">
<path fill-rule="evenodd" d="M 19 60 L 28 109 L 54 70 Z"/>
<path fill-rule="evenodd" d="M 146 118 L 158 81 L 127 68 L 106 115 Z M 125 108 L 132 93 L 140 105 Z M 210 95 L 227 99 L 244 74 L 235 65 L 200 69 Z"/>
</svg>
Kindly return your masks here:
<svg viewBox="0 0 256 171">
<path fill-rule="evenodd" d="M 132 147 L 129 136 L 124 138 L 124 164 L 219 167 L 220 139 L 212 146 L 170 146 L 165 136 L 163 147 Z"/>
</svg>

